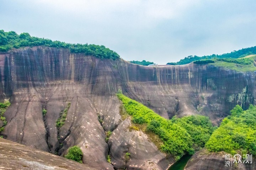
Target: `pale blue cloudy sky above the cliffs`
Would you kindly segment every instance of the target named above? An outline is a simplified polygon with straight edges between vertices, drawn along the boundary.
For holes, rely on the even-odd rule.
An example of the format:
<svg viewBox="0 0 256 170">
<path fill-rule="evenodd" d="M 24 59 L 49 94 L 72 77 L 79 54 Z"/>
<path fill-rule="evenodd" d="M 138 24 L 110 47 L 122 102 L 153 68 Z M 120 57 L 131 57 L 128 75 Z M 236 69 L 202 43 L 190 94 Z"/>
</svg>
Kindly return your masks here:
<svg viewBox="0 0 256 170">
<path fill-rule="evenodd" d="M 157 64 L 256 46 L 255 0 L 0 0 L 0 29 Z"/>
</svg>

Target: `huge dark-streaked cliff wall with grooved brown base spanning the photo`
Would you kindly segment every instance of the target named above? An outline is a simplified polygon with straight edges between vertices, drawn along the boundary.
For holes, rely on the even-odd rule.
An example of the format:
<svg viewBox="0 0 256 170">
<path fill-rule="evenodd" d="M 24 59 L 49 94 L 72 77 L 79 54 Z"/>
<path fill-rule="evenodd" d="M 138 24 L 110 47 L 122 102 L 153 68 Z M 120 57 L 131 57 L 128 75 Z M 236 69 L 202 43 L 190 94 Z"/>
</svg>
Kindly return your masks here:
<svg viewBox="0 0 256 170">
<path fill-rule="evenodd" d="M 5 113 L 7 125 L 2 135 L 60 155 L 78 145 L 84 163 L 113 169 L 106 156 L 114 145 L 105 142 L 105 131 L 115 130 L 121 122 L 118 89 L 167 119 L 202 114 L 218 124 L 236 104 L 245 109 L 255 104 L 255 76 L 255 72 L 192 63 L 139 66 L 45 46 L 17 49 L 0 53 L 0 99 L 10 98 L 12 104 Z M 65 124 L 58 130 L 56 121 L 69 102 Z M 47 109 L 45 117 L 42 108 Z M 122 155 L 123 150 L 116 154 Z M 127 165 L 136 164 L 136 160 L 129 162 Z M 162 162 L 158 166 L 169 164 Z"/>
</svg>

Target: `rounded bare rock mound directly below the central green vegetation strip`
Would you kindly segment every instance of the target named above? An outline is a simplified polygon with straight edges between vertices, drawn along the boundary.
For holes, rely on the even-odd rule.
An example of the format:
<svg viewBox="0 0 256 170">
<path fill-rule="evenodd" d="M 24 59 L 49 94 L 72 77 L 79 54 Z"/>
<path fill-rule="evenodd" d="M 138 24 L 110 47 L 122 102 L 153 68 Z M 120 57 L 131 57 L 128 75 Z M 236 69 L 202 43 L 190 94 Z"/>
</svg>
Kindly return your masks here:
<svg viewBox="0 0 256 170">
<path fill-rule="evenodd" d="M 166 158 L 158 148 L 150 142 L 142 131 L 131 130 L 130 119 L 124 120 L 109 139 L 111 161 L 117 169 L 167 169 L 175 162 L 174 158 Z M 125 154 L 130 154 L 130 159 Z"/>
</svg>

